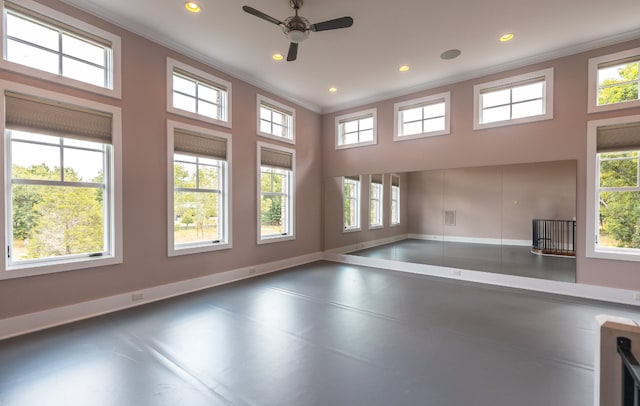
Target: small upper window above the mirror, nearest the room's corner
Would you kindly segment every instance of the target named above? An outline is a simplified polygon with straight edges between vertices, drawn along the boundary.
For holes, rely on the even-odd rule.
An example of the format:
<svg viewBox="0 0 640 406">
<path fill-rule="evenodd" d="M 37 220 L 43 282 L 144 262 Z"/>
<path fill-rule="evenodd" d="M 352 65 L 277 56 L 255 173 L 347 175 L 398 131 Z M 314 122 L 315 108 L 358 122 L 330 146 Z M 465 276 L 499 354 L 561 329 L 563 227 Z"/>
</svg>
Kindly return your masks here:
<svg viewBox="0 0 640 406">
<path fill-rule="evenodd" d="M 378 142 L 377 110 L 336 117 L 336 148 L 373 145 Z"/>
</svg>

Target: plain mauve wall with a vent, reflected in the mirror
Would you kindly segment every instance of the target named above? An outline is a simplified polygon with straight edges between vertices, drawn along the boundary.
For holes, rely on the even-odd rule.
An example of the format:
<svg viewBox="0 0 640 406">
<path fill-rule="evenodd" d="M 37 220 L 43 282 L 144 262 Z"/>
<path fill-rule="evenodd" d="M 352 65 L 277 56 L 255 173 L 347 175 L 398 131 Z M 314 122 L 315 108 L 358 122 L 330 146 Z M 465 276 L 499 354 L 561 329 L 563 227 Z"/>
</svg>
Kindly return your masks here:
<svg viewBox="0 0 640 406">
<path fill-rule="evenodd" d="M 531 240 L 531 220 L 576 217 L 576 162 L 410 172 L 409 233 Z M 455 225 L 443 225 L 445 210 Z"/>
</svg>

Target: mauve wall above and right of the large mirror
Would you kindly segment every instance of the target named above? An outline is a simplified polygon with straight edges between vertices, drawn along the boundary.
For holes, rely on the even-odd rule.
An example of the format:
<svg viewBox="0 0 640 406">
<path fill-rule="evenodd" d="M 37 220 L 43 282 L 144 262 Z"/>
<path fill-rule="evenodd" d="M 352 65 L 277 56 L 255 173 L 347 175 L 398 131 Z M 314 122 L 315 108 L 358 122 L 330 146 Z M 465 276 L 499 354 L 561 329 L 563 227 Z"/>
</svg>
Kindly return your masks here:
<svg viewBox="0 0 640 406">
<path fill-rule="evenodd" d="M 587 121 L 640 114 L 640 108 L 587 114 L 588 59 L 636 47 L 640 40 L 327 114 L 322 118 L 324 176 L 576 160 L 577 281 L 638 290 L 639 263 L 585 256 Z M 452 63 L 464 63 L 464 59 Z M 473 85 L 549 67 L 554 68 L 555 79 L 553 120 L 473 130 Z M 451 91 L 451 134 L 393 142 L 393 104 L 444 91 Z M 336 151 L 336 115 L 373 107 L 378 109 L 378 144 Z"/>
</svg>

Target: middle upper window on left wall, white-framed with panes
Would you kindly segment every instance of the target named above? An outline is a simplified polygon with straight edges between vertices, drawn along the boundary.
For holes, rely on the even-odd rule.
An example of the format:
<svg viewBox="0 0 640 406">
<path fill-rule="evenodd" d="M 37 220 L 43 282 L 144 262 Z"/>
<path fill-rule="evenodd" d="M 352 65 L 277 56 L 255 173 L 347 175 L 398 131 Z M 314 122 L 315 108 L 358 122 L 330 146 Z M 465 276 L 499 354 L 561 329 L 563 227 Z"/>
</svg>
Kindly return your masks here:
<svg viewBox="0 0 640 406">
<path fill-rule="evenodd" d="M 167 58 L 168 106 L 174 114 L 231 127 L 231 83 Z"/>
</svg>

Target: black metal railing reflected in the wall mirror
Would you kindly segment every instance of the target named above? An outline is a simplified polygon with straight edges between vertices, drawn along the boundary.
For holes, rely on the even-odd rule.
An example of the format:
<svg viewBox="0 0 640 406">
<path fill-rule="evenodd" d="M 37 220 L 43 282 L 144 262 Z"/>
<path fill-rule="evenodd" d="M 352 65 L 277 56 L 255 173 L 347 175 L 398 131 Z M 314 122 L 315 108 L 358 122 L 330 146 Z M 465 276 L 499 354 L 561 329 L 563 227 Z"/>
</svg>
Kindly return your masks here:
<svg viewBox="0 0 640 406">
<path fill-rule="evenodd" d="M 576 256 L 575 220 L 532 220 L 531 251 L 544 255 Z"/>
</svg>

